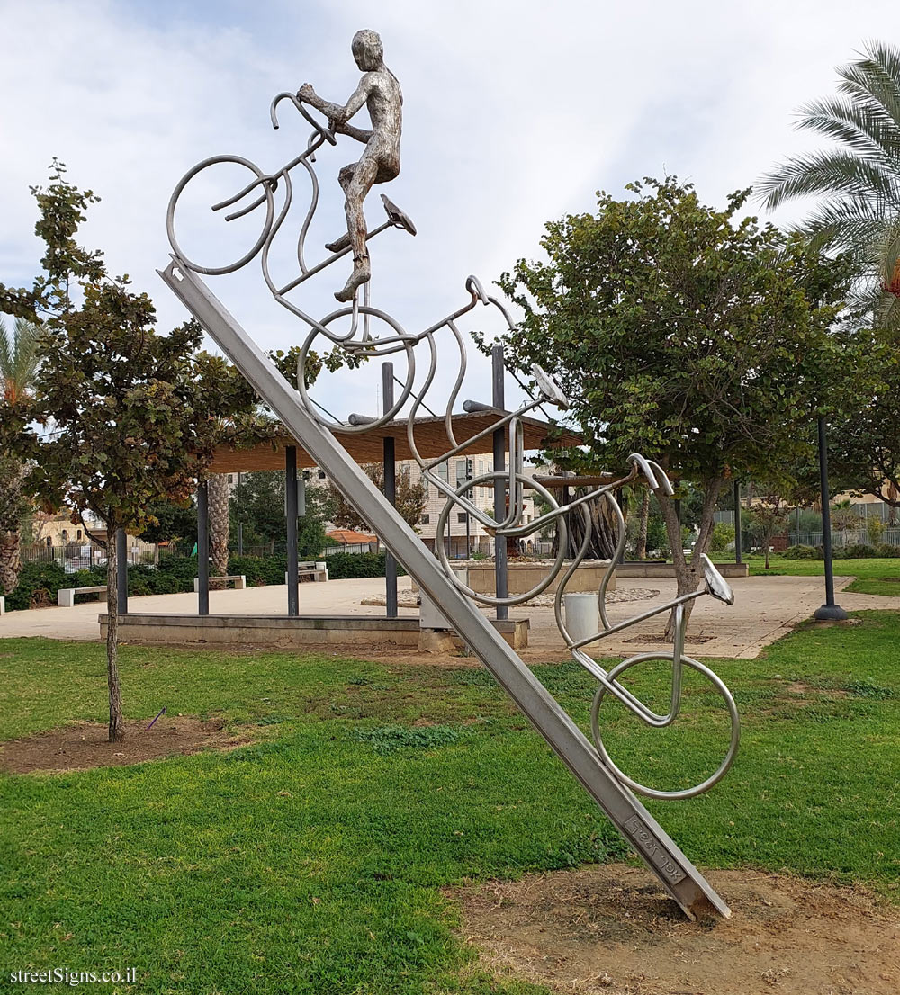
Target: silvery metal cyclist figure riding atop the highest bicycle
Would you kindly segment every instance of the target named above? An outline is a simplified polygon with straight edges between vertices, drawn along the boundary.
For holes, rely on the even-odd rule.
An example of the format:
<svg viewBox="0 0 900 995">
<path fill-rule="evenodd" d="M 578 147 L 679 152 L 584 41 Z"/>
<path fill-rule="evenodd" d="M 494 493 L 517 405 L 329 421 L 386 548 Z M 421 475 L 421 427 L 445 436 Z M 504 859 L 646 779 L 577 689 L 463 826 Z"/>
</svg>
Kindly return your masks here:
<svg viewBox="0 0 900 995">
<path fill-rule="evenodd" d="M 400 131 L 402 128 L 403 95 L 397 78 L 384 65 L 381 39 L 374 31 L 357 31 L 351 45 L 353 59 L 364 74 L 359 86 L 346 104 L 323 100 L 305 83 L 297 92 L 303 100 L 321 110 L 331 126 L 340 134 L 364 142 L 365 150 L 358 162 L 344 166 L 338 182 L 346 198 L 346 235 L 326 246 L 330 252 L 340 252 L 348 245 L 353 247 L 353 272 L 346 286 L 335 297 L 352 300 L 357 289 L 371 276 L 368 250 L 365 247 L 365 217 L 362 201 L 373 183 L 387 183 L 400 172 Z M 347 121 L 365 104 L 371 119 L 371 130 L 355 127 Z"/>
</svg>

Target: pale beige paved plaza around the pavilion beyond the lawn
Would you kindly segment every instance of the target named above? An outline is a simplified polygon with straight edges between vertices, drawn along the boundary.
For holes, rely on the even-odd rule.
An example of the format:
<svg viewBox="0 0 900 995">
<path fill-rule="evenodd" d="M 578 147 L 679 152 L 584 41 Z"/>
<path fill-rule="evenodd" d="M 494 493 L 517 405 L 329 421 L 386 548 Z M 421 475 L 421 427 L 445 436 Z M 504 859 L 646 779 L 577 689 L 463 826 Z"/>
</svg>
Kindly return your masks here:
<svg viewBox="0 0 900 995">
<path fill-rule="evenodd" d="M 843 608 L 848 611 L 866 608 L 900 610 L 900 598 L 842 591 L 841 588 L 851 580 L 851 577 L 835 578 L 835 588 L 841 592 L 837 600 Z M 823 600 L 821 577 L 741 577 L 731 583 L 736 596 L 734 605 L 723 605 L 712 598 L 701 598 L 695 603 L 688 628 L 688 653 L 701 657 L 759 656 L 764 647 L 809 618 Z M 400 578 L 401 589 L 408 585 L 408 578 Z M 631 587 L 650 587 L 660 593 L 652 600 L 610 605 L 608 614 L 613 623 L 663 604 L 675 593 L 675 581 L 669 579 L 629 578 L 619 581 L 617 589 L 624 591 Z M 384 581 L 378 578 L 302 584 L 301 614 L 382 615 L 383 608 L 360 605 L 359 601 L 383 593 L 383 590 Z M 197 610 L 197 596 L 153 594 L 131 598 L 129 605 L 134 613 L 190 615 Z M 287 587 L 284 585 L 250 587 L 244 591 L 211 591 L 209 595 L 209 608 L 213 615 L 285 615 L 286 606 Z M 100 638 L 98 616 L 105 610 L 106 605 L 90 602 L 74 608 L 9 612 L 0 618 L 0 638 L 45 636 L 50 639 L 97 640 Z M 551 660 L 566 656 L 553 609 L 519 608 L 513 609 L 511 614 L 514 618 L 527 616 L 531 619 L 527 659 Z M 417 612 L 412 608 L 401 608 L 400 615 L 414 617 Z M 597 656 L 622 656 L 658 649 L 664 624 L 665 616 L 659 615 L 608 641 L 593 644 L 588 651 Z M 358 648 L 354 652 L 358 653 Z"/>
</svg>

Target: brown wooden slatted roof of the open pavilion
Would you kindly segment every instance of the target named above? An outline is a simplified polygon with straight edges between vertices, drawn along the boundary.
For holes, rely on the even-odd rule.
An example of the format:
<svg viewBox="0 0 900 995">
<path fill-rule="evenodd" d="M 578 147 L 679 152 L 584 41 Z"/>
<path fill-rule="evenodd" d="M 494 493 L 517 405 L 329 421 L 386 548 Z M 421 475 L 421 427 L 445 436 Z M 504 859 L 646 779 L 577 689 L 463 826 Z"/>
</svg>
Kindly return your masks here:
<svg viewBox="0 0 900 995">
<path fill-rule="evenodd" d="M 499 411 L 478 411 L 453 416 L 453 432 L 457 440 L 463 443 L 475 439 L 481 432 L 490 429 L 497 421 Z M 562 430 L 561 438 L 549 442 L 551 426 L 536 418 L 523 418 L 526 450 L 557 449 L 579 446 L 582 438 L 575 432 Z M 384 457 L 383 443 L 385 439 L 393 438 L 397 462 L 411 460 L 412 453 L 406 438 L 406 421 L 388 422 L 378 428 L 366 429 L 363 432 L 340 432 L 335 435 L 356 463 L 380 463 Z M 415 422 L 415 441 L 419 453 L 425 459 L 434 459 L 451 449 L 450 440 L 443 417 L 417 418 Z M 284 470 L 285 448 L 297 447 L 298 467 L 315 467 L 316 461 L 289 435 L 276 437 L 260 443 L 251 449 L 229 449 L 225 446 L 216 450 L 210 472 L 213 474 L 246 474 L 257 470 Z M 479 456 L 493 452 L 491 436 L 478 439 L 459 455 Z"/>
</svg>

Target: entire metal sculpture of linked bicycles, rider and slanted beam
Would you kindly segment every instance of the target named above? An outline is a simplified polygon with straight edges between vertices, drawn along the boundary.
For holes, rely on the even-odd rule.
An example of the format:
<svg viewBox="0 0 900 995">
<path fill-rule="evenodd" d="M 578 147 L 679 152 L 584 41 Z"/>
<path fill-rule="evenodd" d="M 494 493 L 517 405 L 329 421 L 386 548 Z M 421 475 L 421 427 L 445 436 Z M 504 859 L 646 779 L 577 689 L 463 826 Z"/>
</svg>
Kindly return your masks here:
<svg viewBox="0 0 900 995">
<path fill-rule="evenodd" d="M 373 182 L 390 179 L 399 171 L 399 108 L 402 99 L 399 85 L 383 65 L 377 35 L 373 32 L 359 32 L 353 39 L 353 55 L 359 68 L 365 72 L 365 76 L 345 106 L 322 100 L 309 84 L 301 88 L 296 96 L 279 94 L 272 101 L 270 113 L 273 126 L 279 126 L 277 116 L 279 103 L 282 100 L 290 100 L 313 127 L 305 150 L 277 172 L 264 173 L 257 165 L 242 156 L 220 155 L 205 159 L 185 174 L 175 187 L 168 206 L 167 229 L 173 250 L 173 262 L 161 276 L 216 338 L 223 350 L 279 415 L 292 435 L 317 459 L 320 466 L 336 481 L 359 510 L 364 509 L 363 513 L 366 514 L 367 520 L 371 521 L 385 544 L 415 577 L 422 589 L 441 605 L 442 611 L 454 628 L 482 658 L 501 685 L 529 714 L 551 745 L 557 749 L 563 761 L 688 914 L 693 915 L 700 908 L 728 914 L 727 906 L 721 898 L 716 896 L 652 816 L 640 806 L 627 789 L 654 798 L 689 798 L 717 783 L 734 760 L 739 741 L 739 720 L 734 699 L 713 671 L 684 653 L 685 606 L 688 602 L 710 595 L 731 604 L 734 600 L 732 591 L 712 562 L 703 557 L 706 580 L 703 590 L 675 598 L 623 622 L 610 623 L 606 609 L 606 591 L 613 576 L 615 562 L 625 542 L 625 521 L 614 497 L 615 492 L 624 485 L 637 482 L 640 478 L 647 487 L 658 494 L 671 495 L 672 488 L 662 469 L 639 454 L 629 458 L 629 472 L 620 480 L 593 488 L 586 494 L 564 503 L 555 497 L 552 487 L 527 476 L 524 464 L 523 419 L 529 412 L 544 404 L 551 404 L 562 410 L 567 407 L 567 400 L 560 388 L 540 367 L 536 366 L 532 371 L 537 384 L 537 397 L 515 411 L 496 412 L 497 417 L 493 424 L 478 435 L 463 440 L 456 438 L 453 412 L 457 408 L 467 369 L 466 341 L 459 327 L 459 319 L 479 303 L 495 308 L 508 324 L 510 316 L 499 300 L 486 294 L 475 277 L 469 277 L 466 281 L 465 287 L 469 299 L 461 307 L 419 331 L 406 331 L 387 311 L 372 306 L 369 299 L 370 265 L 367 243 L 387 228 L 400 228 L 411 235 L 415 235 L 416 230 L 409 218 L 383 194 L 387 220 L 372 231 L 365 229 L 361 207 L 365 193 Z M 367 102 L 372 117 L 371 131 L 363 131 L 347 123 L 348 117 L 359 109 L 363 102 Z M 307 109 L 305 105 L 307 103 L 323 112 L 328 121 L 317 121 Z M 313 163 L 316 161 L 316 152 L 324 144 L 337 142 L 337 134 L 365 141 L 366 148 L 358 163 L 345 166 L 340 171 L 340 185 L 346 198 L 347 233 L 326 246 L 330 256 L 314 266 L 309 266 L 306 261 L 306 241 L 319 205 L 320 193 Z M 233 208 L 231 213 L 224 216 L 226 223 L 246 218 L 257 212 L 261 219 L 262 230 L 249 251 L 236 263 L 204 267 L 188 258 L 181 249 L 175 234 L 176 209 L 188 184 L 205 171 L 225 163 L 236 164 L 249 170 L 252 178 L 233 195 L 212 204 L 212 211 L 223 212 Z M 302 222 L 297 244 L 300 274 L 279 287 L 270 274 L 270 251 L 273 240 L 282 229 L 292 205 L 294 195 L 292 170 L 298 166 L 306 172 L 311 184 L 311 203 Z M 282 204 L 277 207 L 276 195 L 279 192 Z M 317 319 L 297 303 L 287 299 L 288 294 L 331 267 L 350 251 L 353 253 L 353 272 L 343 290 L 336 295 L 344 306 Z M 264 280 L 273 297 L 301 318 L 309 328 L 299 350 L 296 387 L 289 385 L 268 364 L 247 333 L 237 325 L 196 276 L 233 273 L 258 255 Z M 363 295 L 362 301 L 359 300 L 360 290 Z M 371 418 L 349 414 L 345 419 L 338 420 L 310 396 L 307 368 L 311 363 L 313 347 L 321 337 L 343 350 L 349 360 L 348 365 L 352 368 L 358 367 L 366 360 L 395 354 L 401 354 L 405 358 L 405 378 L 397 380 L 401 389 L 393 404 L 386 406 L 386 410 L 380 416 Z M 446 404 L 443 406 L 447 448 L 440 456 L 426 459 L 420 453 L 416 433 L 420 427 L 418 416 L 425 405 L 429 390 L 434 385 L 438 371 L 439 340 L 446 340 L 450 344 L 456 375 Z M 417 362 L 420 358 L 419 353 L 424 353 L 426 360 L 424 364 Z M 446 353 L 442 353 L 441 369 L 446 370 L 448 367 Z M 463 407 L 473 410 L 473 407 L 477 406 L 472 402 L 466 402 Z M 435 542 L 440 565 L 396 512 L 386 504 L 384 498 L 374 491 L 364 474 L 352 464 L 335 438 L 336 432 L 339 434 L 369 432 L 397 419 L 405 422 L 409 447 L 423 477 L 446 497 L 437 523 Z M 446 477 L 441 476 L 439 473 L 441 465 L 465 451 L 471 451 L 473 445 L 482 439 L 487 440 L 498 429 L 503 429 L 508 438 L 508 469 L 494 468 L 489 473 L 464 481 L 458 487 L 453 487 Z M 566 486 L 576 488 L 578 483 L 577 478 L 565 478 Z M 475 488 L 494 489 L 495 492 L 497 489 L 502 489 L 506 496 L 507 507 L 507 513 L 502 520 L 492 517 L 470 497 Z M 526 491 L 531 491 L 540 497 L 547 508 L 544 513 L 530 522 L 526 520 L 525 515 Z M 588 505 L 593 501 L 606 503 L 613 521 L 617 523 L 618 544 L 616 556 L 610 562 L 598 592 L 600 628 L 587 637 L 575 639 L 569 634 L 565 625 L 563 596 L 566 584 L 590 546 L 591 525 Z M 503 503 L 499 506 L 503 506 Z M 495 542 L 498 544 L 508 538 L 523 538 L 548 527 L 554 528 L 557 533 L 558 552 L 547 575 L 532 590 L 509 597 L 480 594 L 469 588 L 452 570 L 444 548 L 443 536 L 451 520 L 450 515 L 455 512 L 465 512 L 476 521 L 480 521 L 485 529 L 495 536 Z M 576 514 L 584 518 L 583 539 L 574 556 L 566 559 L 568 549 L 566 521 L 569 520 L 569 516 Z M 584 740 L 559 702 L 550 696 L 476 608 L 476 604 L 498 607 L 522 604 L 546 590 L 558 577 L 561 578 L 561 582 L 555 597 L 555 613 L 562 639 L 572 658 L 597 681 L 597 690 L 590 710 L 592 747 Z M 588 644 L 621 632 L 651 616 L 671 610 L 676 613 L 675 640 L 671 652 L 632 656 L 608 671 L 586 653 L 585 648 Z M 664 714 L 654 711 L 629 691 L 620 680 L 633 668 L 651 661 L 663 661 L 671 665 L 671 695 L 669 709 Z M 647 725 L 659 728 L 671 725 L 677 718 L 681 706 L 685 667 L 697 672 L 711 683 L 716 693 L 722 697 L 731 723 L 731 737 L 724 759 L 709 777 L 686 789 L 662 791 L 639 783 L 615 765 L 602 741 L 600 709 L 604 700 L 614 697 Z"/>
</svg>

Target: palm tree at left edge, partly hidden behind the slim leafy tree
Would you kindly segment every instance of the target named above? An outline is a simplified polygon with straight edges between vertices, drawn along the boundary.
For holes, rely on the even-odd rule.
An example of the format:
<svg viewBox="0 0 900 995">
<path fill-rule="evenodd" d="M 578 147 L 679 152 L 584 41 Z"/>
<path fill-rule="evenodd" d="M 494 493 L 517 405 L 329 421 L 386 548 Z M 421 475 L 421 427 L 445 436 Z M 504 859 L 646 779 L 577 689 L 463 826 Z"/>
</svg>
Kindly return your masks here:
<svg viewBox="0 0 900 995">
<path fill-rule="evenodd" d="M 0 318 L 0 395 L 6 404 L 19 403 L 34 383 L 40 331 L 40 325 L 20 317 L 10 333 Z M 21 461 L 0 457 L 0 594 L 19 583 L 24 474 Z"/>
</svg>

